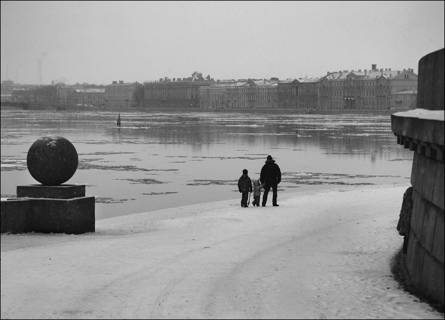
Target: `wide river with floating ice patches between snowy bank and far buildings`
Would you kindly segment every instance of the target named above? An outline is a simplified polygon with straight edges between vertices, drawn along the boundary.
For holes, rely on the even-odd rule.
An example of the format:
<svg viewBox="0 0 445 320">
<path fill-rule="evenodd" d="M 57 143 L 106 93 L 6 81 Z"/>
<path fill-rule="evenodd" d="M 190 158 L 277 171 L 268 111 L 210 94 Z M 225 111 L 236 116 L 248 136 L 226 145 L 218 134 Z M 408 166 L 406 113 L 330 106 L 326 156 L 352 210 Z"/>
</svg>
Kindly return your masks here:
<svg viewBox="0 0 445 320">
<path fill-rule="evenodd" d="M 1 197 L 37 184 L 26 167 L 40 137 L 62 136 L 79 155 L 66 184 L 87 184 L 96 219 L 234 199 L 243 169 L 258 179 L 270 154 L 282 192 L 409 182 L 412 152 L 389 115 L 1 111 Z M 238 199 L 239 198 L 239 199 Z"/>
</svg>

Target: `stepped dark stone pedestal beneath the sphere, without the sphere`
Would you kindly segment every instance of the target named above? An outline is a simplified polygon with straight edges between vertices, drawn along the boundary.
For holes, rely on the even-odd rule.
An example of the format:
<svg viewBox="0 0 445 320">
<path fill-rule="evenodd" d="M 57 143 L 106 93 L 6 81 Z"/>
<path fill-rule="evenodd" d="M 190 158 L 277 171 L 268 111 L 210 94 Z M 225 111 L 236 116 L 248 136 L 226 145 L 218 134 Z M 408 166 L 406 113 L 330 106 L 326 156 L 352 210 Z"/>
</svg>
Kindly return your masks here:
<svg viewBox="0 0 445 320">
<path fill-rule="evenodd" d="M 1 233 L 94 232 L 94 205 L 85 184 L 17 186 L 16 199 L 1 201 Z"/>
</svg>

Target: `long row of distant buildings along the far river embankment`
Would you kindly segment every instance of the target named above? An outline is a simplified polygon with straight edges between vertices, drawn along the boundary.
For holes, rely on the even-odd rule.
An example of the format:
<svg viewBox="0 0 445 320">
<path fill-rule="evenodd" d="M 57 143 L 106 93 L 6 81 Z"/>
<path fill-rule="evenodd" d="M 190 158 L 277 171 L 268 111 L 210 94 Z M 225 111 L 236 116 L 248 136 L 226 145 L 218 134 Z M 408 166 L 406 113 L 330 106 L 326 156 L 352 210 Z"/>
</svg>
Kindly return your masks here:
<svg viewBox="0 0 445 320">
<path fill-rule="evenodd" d="M 413 69 L 340 70 L 321 78 L 214 80 L 193 72 L 144 83 L 105 86 L 17 85 L 2 82 L 1 102 L 46 103 L 66 108 L 227 110 L 409 110 L 417 100 Z"/>
</svg>

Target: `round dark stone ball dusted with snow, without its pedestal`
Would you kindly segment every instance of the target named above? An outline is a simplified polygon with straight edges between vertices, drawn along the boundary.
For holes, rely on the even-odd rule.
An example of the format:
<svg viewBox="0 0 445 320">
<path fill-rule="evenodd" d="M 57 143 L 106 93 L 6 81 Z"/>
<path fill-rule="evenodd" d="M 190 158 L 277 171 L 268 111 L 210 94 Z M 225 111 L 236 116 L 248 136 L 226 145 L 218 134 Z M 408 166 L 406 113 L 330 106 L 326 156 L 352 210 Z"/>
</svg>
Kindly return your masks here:
<svg viewBox="0 0 445 320">
<path fill-rule="evenodd" d="M 74 145 L 64 137 L 46 136 L 29 148 L 26 165 L 31 176 L 43 185 L 59 185 L 73 177 L 79 164 Z"/>
</svg>

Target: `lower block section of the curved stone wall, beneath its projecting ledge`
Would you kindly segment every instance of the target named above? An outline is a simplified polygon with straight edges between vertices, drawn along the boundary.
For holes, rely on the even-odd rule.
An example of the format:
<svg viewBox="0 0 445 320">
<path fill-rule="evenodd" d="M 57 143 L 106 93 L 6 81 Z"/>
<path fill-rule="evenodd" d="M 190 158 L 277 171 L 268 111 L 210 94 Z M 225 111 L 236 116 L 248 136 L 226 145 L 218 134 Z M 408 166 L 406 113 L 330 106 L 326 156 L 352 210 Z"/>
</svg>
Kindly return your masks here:
<svg viewBox="0 0 445 320">
<path fill-rule="evenodd" d="M 406 270 L 414 286 L 444 304 L 444 163 L 415 154 L 411 184 Z"/>
</svg>

